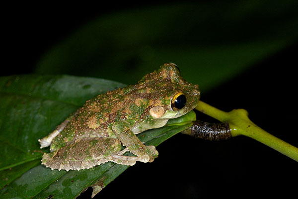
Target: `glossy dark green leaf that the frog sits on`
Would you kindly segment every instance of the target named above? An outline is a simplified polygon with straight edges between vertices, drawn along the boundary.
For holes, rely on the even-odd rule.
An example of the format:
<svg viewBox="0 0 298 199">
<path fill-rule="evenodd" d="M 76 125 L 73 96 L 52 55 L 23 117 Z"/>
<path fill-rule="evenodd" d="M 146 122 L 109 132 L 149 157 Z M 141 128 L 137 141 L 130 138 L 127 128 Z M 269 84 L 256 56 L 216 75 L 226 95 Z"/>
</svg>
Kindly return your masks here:
<svg viewBox="0 0 298 199">
<path fill-rule="evenodd" d="M 37 141 L 85 100 L 119 87 L 124 85 L 73 76 L 0 78 L 0 156 L 1 160 L 5 160 L 0 162 L 1 187 L 5 186 L 0 192 L 1 198 L 44 199 L 54 196 L 70 199 L 92 185 L 95 195 L 125 171 L 128 166 L 114 163 L 89 170 L 52 171 L 40 165 L 42 154 L 48 149 L 41 150 Z M 147 144 L 157 146 L 190 127 L 195 118 L 195 113 L 190 112 L 173 119 L 169 126 L 140 133 L 138 137 Z"/>
</svg>

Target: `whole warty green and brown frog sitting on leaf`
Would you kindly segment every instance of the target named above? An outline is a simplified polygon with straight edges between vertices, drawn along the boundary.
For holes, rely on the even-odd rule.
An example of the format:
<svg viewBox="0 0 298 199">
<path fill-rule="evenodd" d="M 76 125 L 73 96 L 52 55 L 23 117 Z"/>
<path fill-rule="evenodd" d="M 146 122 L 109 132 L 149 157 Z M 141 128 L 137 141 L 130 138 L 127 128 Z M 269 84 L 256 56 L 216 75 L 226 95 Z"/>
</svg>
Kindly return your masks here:
<svg viewBox="0 0 298 199">
<path fill-rule="evenodd" d="M 42 164 L 68 171 L 108 161 L 123 165 L 152 162 L 158 152 L 154 146 L 144 145 L 136 134 L 162 127 L 168 119 L 188 113 L 199 99 L 198 85 L 186 82 L 175 64 L 164 64 L 136 85 L 86 101 L 39 140 L 41 148 L 51 145 Z M 126 147 L 123 150 L 122 145 Z M 136 156 L 124 156 L 127 151 Z"/>
</svg>

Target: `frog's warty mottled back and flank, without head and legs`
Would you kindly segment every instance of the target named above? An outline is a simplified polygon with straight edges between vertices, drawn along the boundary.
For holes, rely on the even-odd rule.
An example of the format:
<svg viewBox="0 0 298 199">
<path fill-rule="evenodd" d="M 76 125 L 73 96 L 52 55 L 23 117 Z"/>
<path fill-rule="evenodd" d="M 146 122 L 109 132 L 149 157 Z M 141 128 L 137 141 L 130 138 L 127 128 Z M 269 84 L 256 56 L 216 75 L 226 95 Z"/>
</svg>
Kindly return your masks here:
<svg viewBox="0 0 298 199">
<path fill-rule="evenodd" d="M 128 86 L 101 94 L 78 109 L 74 118 L 55 137 L 51 145 L 54 151 L 68 141 L 84 137 L 112 137 L 116 135 L 111 125 L 119 120 L 139 120 L 149 106 L 149 100 L 138 92 L 137 86 Z M 139 98 L 137 97 L 139 96 Z"/>
</svg>

